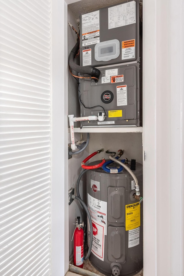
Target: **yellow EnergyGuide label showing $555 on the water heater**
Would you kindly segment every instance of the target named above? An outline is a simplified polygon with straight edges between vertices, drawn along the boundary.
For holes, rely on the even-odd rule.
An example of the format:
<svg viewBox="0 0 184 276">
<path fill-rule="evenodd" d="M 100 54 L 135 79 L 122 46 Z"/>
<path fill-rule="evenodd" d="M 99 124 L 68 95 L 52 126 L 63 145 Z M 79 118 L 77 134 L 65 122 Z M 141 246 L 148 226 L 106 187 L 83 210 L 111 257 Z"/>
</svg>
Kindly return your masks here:
<svg viewBox="0 0 184 276">
<path fill-rule="evenodd" d="M 141 225 L 139 202 L 125 205 L 125 225 L 126 231 L 135 229 Z"/>
</svg>

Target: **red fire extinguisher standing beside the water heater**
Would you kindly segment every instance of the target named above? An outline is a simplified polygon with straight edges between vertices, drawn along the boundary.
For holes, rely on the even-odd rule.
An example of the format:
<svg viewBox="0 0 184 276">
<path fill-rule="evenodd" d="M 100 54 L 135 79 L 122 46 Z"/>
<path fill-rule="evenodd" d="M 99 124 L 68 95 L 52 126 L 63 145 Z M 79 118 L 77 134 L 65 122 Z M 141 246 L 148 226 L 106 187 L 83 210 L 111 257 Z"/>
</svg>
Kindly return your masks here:
<svg viewBox="0 0 184 276">
<path fill-rule="evenodd" d="M 74 231 L 74 265 L 83 268 L 84 261 L 84 231 L 80 223 L 80 217 L 77 217 L 78 222 Z"/>
</svg>

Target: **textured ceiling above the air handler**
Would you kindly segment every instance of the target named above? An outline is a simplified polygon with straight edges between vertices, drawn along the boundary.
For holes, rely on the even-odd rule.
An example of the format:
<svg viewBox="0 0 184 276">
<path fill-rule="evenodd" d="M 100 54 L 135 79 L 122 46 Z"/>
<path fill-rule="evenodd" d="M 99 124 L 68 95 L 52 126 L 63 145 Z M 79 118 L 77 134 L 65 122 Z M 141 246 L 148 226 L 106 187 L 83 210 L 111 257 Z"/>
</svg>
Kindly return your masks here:
<svg viewBox="0 0 184 276">
<path fill-rule="evenodd" d="M 68 5 L 76 19 L 79 18 L 80 14 L 93 12 L 102 7 L 108 7 L 117 3 L 122 3 L 120 0 L 82 0 L 76 3 Z"/>
</svg>

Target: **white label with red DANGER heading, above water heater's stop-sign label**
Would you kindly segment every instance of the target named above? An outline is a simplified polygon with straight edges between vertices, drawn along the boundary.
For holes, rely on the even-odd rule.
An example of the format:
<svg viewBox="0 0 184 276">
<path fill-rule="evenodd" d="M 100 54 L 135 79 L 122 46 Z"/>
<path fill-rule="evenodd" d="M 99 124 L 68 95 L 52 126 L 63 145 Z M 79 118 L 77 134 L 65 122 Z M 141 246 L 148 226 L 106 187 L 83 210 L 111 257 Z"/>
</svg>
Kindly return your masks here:
<svg viewBox="0 0 184 276">
<path fill-rule="evenodd" d="M 104 234 L 107 235 L 107 202 L 95 199 L 93 196 L 87 194 L 88 210 L 91 215 L 91 219 L 104 227 Z"/>
</svg>

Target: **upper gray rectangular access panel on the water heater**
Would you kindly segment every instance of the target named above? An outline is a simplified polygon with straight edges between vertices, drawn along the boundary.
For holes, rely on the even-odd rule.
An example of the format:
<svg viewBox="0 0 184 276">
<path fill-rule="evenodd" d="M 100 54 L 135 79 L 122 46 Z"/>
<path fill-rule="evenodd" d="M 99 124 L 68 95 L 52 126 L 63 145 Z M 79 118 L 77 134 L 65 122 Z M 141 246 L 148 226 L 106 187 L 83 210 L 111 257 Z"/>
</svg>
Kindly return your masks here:
<svg viewBox="0 0 184 276">
<path fill-rule="evenodd" d="M 108 221 L 125 221 L 125 189 L 124 187 L 108 187 Z"/>
</svg>

